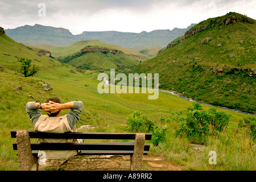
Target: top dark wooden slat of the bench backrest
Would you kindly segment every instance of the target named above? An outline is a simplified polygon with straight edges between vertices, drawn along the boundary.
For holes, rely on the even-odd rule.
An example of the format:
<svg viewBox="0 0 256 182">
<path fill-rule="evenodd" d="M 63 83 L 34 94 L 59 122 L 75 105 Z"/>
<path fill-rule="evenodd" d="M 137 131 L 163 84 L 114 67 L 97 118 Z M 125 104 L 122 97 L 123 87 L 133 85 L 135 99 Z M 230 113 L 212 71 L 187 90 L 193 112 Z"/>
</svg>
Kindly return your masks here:
<svg viewBox="0 0 256 182">
<path fill-rule="evenodd" d="M 28 131 L 30 138 L 63 138 L 63 139 L 130 139 L 134 140 L 136 133 L 97 133 L 97 132 L 67 132 L 43 133 Z M 151 140 L 152 134 L 146 133 L 145 140 Z M 16 138 L 16 130 L 11 130 L 11 138 Z"/>
</svg>

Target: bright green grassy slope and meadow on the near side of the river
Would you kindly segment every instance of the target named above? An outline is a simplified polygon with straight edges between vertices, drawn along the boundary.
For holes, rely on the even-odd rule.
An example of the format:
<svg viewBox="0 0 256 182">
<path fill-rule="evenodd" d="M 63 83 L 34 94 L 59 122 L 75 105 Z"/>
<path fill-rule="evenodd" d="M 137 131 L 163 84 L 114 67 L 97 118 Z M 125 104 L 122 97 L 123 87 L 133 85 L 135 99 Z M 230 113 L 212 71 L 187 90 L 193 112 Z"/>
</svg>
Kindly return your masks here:
<svg viewBox="0 0 256 182">
<path fill-rule="evenodd" d="M 10 56 L 4 53 L 9 53 Z M 19 74 L 20 63 L 15 56 L 38 59 L 32 61 L 40 67 L 34 77 Z M 189 141 L 175 137 L 179 127 L 177 118 L 185 117 L 192 102 L 172 94 L 160 92 L 158 100 L 148 100 L 148 94 L 99 94 L 97 86 L 98 72 L 69 72 L 72 68 L 49 60 L 47 56 L 38 56 L 36 52 L 14 42 L 6 35 L 0 35 L 0 170 L 18 170 L 16 151 L 10 136 L 10 130 L 33 130 L 26 114 L 25 105 L 29 101 L 44 102 L 49 97 L 59 97 L 61 101 L 82 101 L 84 107 L 77 128 L 82 125 L 97 125 L 97 129 L 80 130 L 96 132 L 125 132 L 127 117 L 134 110 L 146 115 L 160 127 L 167 126 L 166 142 L 152 146 L 150 153 L 161 155 L 171 163 L 180 164 L 184 170 L 255 170 L 254 154 L 256 148 L 246 129 L 238 130 L 238 121 L 247 115 L 225 111 L 231 114 L 229 127 L 218 138 L 210 137 L 210 142 L 201 152 L 193 152 Z M 54 65 L 53 65 L 54 64 Z M 53 90 L 44 90 L 41 82 L 47 82 Z M 202 105 L 204 110 L 212 107 Z M 175 113 L 179 113 L 176 115 Z M 43 112 L 43 111 L 42 111 Z M 66 114 L 68 110 L 61 111 Z M 46 114 L 43 112 L 43 114 Z M 35 142 L 35 140 L 32 140 Z M 95 141 L 93 141 L 95 142 Z M 154 148 L 154 151 L 153 151 Z M 208 163 L 209 151 L 217 152 L 217 164 Z"/>
</svg>

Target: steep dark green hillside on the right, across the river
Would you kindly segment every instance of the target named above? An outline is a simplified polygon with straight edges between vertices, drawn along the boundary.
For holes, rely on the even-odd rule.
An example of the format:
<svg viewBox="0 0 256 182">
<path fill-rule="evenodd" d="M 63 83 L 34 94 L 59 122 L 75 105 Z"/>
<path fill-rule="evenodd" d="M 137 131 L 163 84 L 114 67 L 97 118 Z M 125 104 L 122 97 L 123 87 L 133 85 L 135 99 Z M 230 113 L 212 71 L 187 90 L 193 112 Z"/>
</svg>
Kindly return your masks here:
<svg viewBox="0 0 256 182">
<path fill-rule="evenodd" d="M 237 13 L 200 22 L 134 69 L 159 73 L 161 89 L 251 113 L 256 112 L 255 71 L 256 23 Z"/>
</svg>

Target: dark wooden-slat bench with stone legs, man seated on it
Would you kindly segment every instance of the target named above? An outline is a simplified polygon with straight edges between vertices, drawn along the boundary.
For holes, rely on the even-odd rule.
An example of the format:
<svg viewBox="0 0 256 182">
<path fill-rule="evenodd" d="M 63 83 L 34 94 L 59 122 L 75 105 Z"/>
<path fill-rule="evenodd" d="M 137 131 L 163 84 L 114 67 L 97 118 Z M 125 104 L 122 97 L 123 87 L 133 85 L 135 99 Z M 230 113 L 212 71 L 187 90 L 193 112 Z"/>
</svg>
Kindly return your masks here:
<svg viewBox="0 0 256 182">
<path fill-rule="evenodd" d="M 38 169 L 38 150 L 80 150 L 77 155 L 130 155 L 131 170 L 141 170 L 143 155 L 147 155 L 152 134 L 144 133 L 42 133 L 38 131 L 11 130 L 11 138 L 16 138 L 13 149 L 17 150 L 20 171 Z M 100 142 L 100 143 L 31 143 L 30 138 L 55 139 L 123 139 L 134 142 Z"/>
</svg>

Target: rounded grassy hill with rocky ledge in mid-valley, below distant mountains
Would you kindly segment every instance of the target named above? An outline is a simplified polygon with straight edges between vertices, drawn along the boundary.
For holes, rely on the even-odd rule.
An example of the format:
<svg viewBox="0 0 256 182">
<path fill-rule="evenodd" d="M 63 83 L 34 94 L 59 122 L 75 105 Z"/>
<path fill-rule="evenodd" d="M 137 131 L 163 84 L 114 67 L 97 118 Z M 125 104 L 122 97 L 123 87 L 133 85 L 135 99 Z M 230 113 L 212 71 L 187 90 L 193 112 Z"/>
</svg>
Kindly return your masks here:
<svg viewBox="0 0 256 182">
<path fill-rule="evenodd" d="M 124 68 L 133 68 L 140 61 L 150 59 L 150 57 L 132 49 L 107 44 L 100 40 L 82 40 L 65 47 L 53 47 L 47 45 L 40 45 L 37 47 L 47 49 L 51 52 L 53 57 L 58 57 L 60 61 L 72 64 L 73 66 L 81 69 L 119 68 L 118 65 L 123 65 Z M 80 50 L 84 47 L 115 49 L 122 51 L 122 53 L 119 53 L 119 55 L 102 52 L 81 54 Z"/>
</svg>

